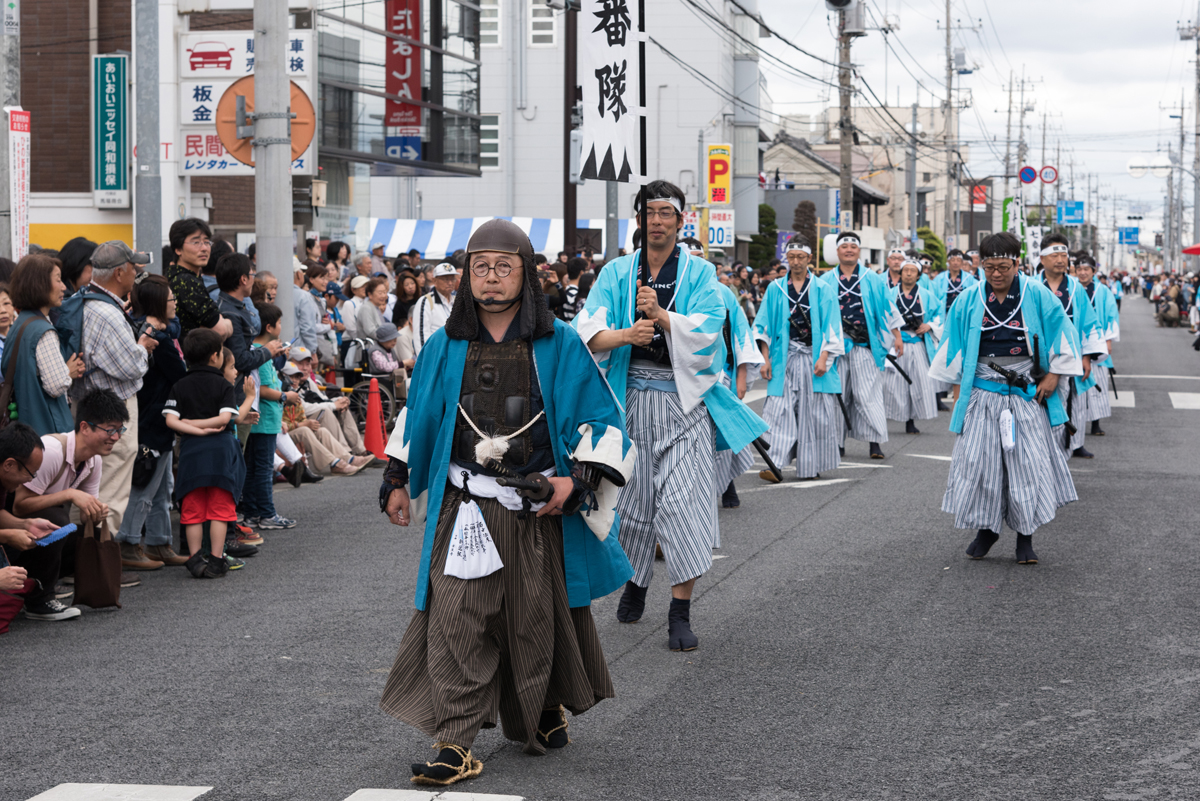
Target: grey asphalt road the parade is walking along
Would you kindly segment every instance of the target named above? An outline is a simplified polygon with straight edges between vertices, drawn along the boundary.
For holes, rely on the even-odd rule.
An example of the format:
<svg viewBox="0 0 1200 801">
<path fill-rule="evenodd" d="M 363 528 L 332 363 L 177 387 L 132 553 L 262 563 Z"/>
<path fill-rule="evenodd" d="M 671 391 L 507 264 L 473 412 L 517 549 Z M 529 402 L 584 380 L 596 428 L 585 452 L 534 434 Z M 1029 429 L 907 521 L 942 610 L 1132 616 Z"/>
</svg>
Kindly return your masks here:
<svg viewBox="0 0 1200 801">
<path fill-rule="evenodd" d="M 1177 799 L 1200 794 L 1195 453 L 1200 355 L 1129 299 L 1108 435 L 1080 501 L 983 561 L 940 511 L 948 415 L 838 483 L 738 481 L 697 584 L 701 648 L 666 648 L 668 588 L 635 626 L 593 607 L 618 697 L 530 758 L 498 730 L 455 789 L 527 799 Z M 1193 380 L 1127 378 L 1181 375 Z M 1186 403 L 1186 399 L 1177 399 Z M 427 739 L 377 707 L 419 537 L 378 471 L 281 492 L 294 531 L 218 582 L 145 576 L 125 607 L 0 638 L 0 800 L 64 782 L 204 784 L 205 799 L 338 801 L 407 788 Z"/>
</svg>

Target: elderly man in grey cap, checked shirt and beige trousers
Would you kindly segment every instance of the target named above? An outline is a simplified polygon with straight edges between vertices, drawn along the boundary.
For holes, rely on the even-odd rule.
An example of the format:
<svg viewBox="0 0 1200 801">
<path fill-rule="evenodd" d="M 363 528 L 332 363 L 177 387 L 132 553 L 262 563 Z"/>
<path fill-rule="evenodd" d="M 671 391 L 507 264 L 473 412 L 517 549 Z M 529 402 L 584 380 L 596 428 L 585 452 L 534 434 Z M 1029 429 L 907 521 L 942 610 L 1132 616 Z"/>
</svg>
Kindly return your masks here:
<svg viewBox="0 0 1200 801">
<path fill-rule="evenodd" d="M 108 528 L 115 532 L 130 502 L 130 480 L 138 454 L 138 390 L 158 342 L 138 331 L 125 312 L 138 275 L 134 265 L 149 264 L 150 254 L 134 253 L 125 242 L 112 241 L 96 248 L 91 263 L 91 283 L 76 295 L 83 303 L 79 355 L 88 371 L 76 379 L 70 397 L 78 402 L 94 390 L 112 390 L 130 412 L 126 430 L 104 457 L 101 472 L 100 500 L 108 504 Z M 122 548 L 121 556 L 125 566 L 134 570 L 162 565 L 146 558 L 136 543 Z"/>
</svg>

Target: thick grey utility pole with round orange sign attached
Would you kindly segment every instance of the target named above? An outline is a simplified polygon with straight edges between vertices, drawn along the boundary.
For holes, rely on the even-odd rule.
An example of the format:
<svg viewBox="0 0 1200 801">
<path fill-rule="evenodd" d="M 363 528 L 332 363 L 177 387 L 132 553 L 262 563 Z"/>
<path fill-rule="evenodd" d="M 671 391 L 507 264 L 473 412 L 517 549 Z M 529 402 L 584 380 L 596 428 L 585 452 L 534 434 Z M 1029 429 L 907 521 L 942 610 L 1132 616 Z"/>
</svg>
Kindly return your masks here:
<svg viewBox="0 0 1200 801">
<path fill-rule="evenodd" d="M 254 2 L 254 237 L 258 266 L 286 283 L 292 275 L 292 119 L 287 64 L 288 1 Z M 157 85 L 155 86 L 157 91 Z M 155 155 L 158 149 L 155 146 Z M 281 288 L 283 289 L 283 288 Z M 283 303 L 283 331 L 295 314 Z"/>
</svg>

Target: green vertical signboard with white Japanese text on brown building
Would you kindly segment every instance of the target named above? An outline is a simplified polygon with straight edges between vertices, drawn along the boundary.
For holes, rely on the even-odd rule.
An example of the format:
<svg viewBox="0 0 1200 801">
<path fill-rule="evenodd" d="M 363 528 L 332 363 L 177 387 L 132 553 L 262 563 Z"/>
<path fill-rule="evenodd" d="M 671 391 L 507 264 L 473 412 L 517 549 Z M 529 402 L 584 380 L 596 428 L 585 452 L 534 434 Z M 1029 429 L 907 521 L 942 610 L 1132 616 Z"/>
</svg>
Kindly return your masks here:
<svg viewBox="0 0 1200 801">
<path fill-rule="evenodd" d="M 97 209 L 130 207 L 128 59 L 91 59 L 91 192 Z"/>
</svg>

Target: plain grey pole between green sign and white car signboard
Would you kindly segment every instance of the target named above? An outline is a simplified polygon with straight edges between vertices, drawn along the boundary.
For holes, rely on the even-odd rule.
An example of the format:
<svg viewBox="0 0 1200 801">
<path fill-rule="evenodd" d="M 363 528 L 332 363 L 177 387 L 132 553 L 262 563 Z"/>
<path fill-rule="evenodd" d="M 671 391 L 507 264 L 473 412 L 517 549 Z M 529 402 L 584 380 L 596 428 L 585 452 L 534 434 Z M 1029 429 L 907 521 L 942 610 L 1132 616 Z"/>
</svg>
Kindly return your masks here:
<svg viewBox="0 0 1200 801">
<path fill-rule="evenodd" d="M 134 0 L 133 98 L 137 131 L 137 171 L 133 174 L 133 245 L 136 251 L 162 253 L 162 175 L 158 173 L 158 0 Z M 166 265 L 160 264 L 157 272 Z"/>
</svg>

